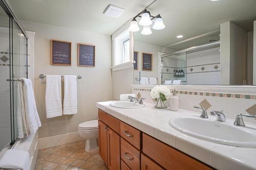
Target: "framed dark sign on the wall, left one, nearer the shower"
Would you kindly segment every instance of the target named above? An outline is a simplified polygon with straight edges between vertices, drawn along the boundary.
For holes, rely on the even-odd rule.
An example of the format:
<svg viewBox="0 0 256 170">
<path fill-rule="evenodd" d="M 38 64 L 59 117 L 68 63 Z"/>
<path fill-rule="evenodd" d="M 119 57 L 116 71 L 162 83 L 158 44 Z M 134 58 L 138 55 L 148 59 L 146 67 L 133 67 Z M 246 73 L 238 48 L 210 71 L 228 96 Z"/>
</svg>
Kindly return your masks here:
<svg viewBox="0 0 256 170">
<path fill-rule="evenodd" d="M 71 66 L 72 42 L 51 40 L 51 64 Z M 67 55 L 67 58 L 65 57 Z"/>
</svg>

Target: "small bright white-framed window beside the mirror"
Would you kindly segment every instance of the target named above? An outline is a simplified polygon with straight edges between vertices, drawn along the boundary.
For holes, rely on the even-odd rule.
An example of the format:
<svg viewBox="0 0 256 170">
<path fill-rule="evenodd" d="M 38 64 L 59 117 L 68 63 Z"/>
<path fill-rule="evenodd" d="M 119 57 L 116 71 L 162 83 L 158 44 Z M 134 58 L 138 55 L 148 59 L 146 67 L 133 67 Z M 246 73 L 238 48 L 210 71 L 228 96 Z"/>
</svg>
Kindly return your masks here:
<svg viewBox="0 0 256 170">
<path fill-rule="evenodd" d="M 121 33 L 114 41 L 114 66 L 130 62 L 130 32 Z"/>
</svg>

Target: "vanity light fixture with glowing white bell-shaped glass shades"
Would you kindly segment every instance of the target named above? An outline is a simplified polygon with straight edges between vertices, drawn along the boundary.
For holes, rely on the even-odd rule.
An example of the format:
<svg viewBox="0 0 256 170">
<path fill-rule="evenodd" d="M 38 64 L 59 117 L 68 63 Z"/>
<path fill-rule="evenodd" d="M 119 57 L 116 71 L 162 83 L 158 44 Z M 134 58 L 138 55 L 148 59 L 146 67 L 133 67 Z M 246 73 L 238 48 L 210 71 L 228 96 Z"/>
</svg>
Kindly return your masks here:
<svg viewBox="0 0 256 170">
<path fill-rule="evenodd" d="M 156 0 L 154 2 L 156 2 Z M 154 2 L 152 2 L 150 5 L 152 5 Z M 148 8 L 150 5 L 148 5 L 146 8 Z M 129 31 L 137 32 L 140 30 L 140 28 L 138 27 L 138 22 L 136 20 L 137 17 L 141 18 L 139 21 L 139 25 L 143 26 L 143 30 L 141 31 L 141 34 L 143 35 L 152 34 L 151 25 L 153 22 L 154 22 L 154 25 L 152 28 L 154 30 L 162 30 L 165 28 L 163 19 L 160 16 L 160 14 L 158 14 L 157 16 L 152 16 L 150 14 L 150 11 L 147 11 L 146 8 L 133 18 L 129 27 Z"/>
</svg>

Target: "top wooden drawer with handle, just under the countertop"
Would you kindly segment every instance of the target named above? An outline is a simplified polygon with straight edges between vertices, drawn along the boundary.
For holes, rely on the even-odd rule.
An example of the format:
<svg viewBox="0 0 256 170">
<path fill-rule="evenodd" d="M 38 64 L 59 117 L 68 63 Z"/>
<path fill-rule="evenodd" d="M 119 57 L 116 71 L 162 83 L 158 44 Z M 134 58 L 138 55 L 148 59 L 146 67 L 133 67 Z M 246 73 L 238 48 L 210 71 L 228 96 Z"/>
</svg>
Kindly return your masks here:
<svg viewBox="0 0 256 170">
<path fill-rule="evenodd" d="M 120 122 L 120 135 L 134 145 L 137 149 L 141 149 L 141 132 L 130 125 Z"/>
</svg>

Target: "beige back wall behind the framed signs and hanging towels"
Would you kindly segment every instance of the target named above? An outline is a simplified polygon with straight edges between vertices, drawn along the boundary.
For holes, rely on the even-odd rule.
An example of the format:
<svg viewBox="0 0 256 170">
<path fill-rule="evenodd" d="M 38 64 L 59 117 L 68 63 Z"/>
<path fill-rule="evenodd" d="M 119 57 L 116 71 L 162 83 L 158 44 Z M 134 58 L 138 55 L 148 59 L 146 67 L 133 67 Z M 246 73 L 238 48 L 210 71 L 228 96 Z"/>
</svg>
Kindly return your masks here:
<svg viewBox="0 0 256 170">
<path fill-rule="evenodd" d="M 21 22 L 26 30 L 35 32 L 35 98 L 42 123 L 39 137 L 76 132 L 79 123 L 97 118 L 96 102 L 112 99 L 111 36 L 23 20 Z M 72 66 L 50 64 L 51 39 L 72 42 Z M 77 66 L 77 43 L 96 45 L 95 67 Z M 46 118 L 46 81 L 39 79 L 39 74 L 82 76 L 82 79 L 77 80 L 78 114 Z"/>
</svg>

